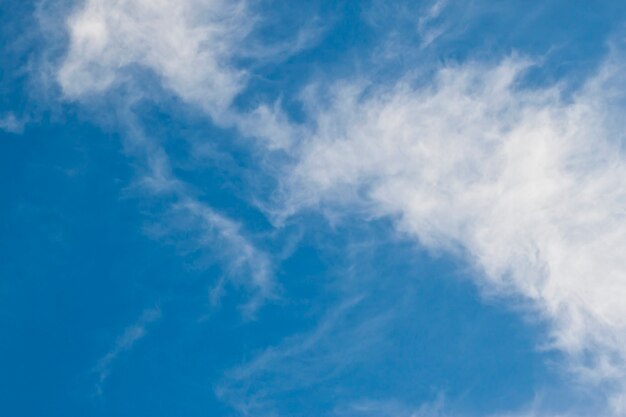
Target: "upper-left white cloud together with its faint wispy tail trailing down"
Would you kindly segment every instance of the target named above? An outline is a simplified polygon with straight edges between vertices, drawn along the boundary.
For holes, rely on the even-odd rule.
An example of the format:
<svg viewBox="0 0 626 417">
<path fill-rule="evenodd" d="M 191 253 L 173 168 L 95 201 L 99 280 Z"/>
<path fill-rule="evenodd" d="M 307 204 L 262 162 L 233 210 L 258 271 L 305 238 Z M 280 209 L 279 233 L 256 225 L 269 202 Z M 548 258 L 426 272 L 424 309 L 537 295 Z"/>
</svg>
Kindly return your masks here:
<svg viewBox="0 0 626 417">
<path fill-rule="evenodd" d="M 203 231 L 194 244 L 220 259 L 229 279 L 251 290 L 244 313 L 253 315 L 272 295 L 269 257 L 244 237 L 241 225 L 196 198 L 177 178 L 169 155 L 158 139 L 144 133 L 135 114 L 134 105 L 142 99 L 136 88 L 141 72 L 133 72 L 137 66 L 154 72 L 166 88 L 219 125 L 238 125 L 250 135 L 266 133 L 281 145 L 285 134 L 277 138 L 275 133 L 288 130 L 279 129 L 285 122 L 275 110 L 259 106 L 241 115 L 230 109 L 246 81 L 245 72 L 231 62 L 253 26 L 246 2 L 87 0 L 68 18 L 67 26 L 69 49 L 56 74 L 65 98 L 104 96 L 121 82 L 133 86 L 134 94 L 115 102 L 113 115 L 123 131 L 127 154 L 139 161 L 141 175 L 134 189 L 170 199 L 166 211 L 172 222 L 161 225 L 161 234 L 189 224 Z"/>
</svg>

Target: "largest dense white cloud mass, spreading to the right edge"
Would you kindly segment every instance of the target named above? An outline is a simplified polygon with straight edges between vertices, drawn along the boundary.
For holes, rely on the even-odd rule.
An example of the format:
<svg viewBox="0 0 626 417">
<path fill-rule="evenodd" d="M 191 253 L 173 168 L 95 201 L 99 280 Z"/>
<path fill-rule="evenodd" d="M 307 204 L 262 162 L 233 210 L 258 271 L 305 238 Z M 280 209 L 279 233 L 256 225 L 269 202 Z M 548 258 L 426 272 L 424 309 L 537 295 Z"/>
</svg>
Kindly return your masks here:
<svg viewBox="0 0 626 417">
<path fill-rule="evenodd" d="M 432 84 L 310 94 L 315 134 L 285 178 L 287 211 L 325 202 L 392 216 L 521 294 L 586 380 L 626 377 L 626 163 L 607 64 L 571 99 L 522 89 L 527 63 L 466 64 Z M 613 88 L 611 90 L 610 87 Z M 344 207 L 346 207 L 344 206 Z M 624 399 L 615 409 L 626 412 Z"/>
</svg>

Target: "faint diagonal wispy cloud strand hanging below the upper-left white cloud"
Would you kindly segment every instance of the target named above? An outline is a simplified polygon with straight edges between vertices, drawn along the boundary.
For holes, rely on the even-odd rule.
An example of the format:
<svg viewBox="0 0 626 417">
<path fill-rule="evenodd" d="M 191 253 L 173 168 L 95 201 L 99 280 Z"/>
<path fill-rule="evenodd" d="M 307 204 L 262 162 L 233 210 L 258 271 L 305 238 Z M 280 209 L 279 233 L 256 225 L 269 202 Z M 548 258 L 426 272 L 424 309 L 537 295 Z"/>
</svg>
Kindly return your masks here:
<svg viewBox="0 0 626 417">
<path fill-rule="evenodd" d="M 124 119 L 127 152 L 142 165 L 139 180 L 131 189 L 167 201 L 163 217 L 149 228 L 150 234 L 165 240 L 182 234 L 184 246 L 202 250 L 209 258 L 221 262 L 225 275 L 218 280 L 212 301 L 219 301 L 226 281 L 235 283 L 249 290 L 250 297 L 242 312 L 248 318 L 253 317 L 263 301 L 275 296 L 271 258 L 246 237 L 240 223 L 203 202 L 188 184 L 176 177 L 168 154 L 158 141 L 143 133 L 131 112 L 125 111 L 121 119 Z"/>
</svg>

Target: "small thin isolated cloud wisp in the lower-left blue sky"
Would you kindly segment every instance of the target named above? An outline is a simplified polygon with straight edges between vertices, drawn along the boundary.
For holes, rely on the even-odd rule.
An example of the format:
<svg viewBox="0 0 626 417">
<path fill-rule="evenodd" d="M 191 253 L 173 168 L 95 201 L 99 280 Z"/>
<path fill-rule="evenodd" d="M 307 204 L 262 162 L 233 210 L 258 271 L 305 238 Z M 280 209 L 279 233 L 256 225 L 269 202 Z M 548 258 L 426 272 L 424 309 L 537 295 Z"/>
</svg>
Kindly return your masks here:
<svg viewBox="0 0 626 417">
<path fill-rule="evenodd" d="M 111 374 L 111 366 L 117 357 L 133 348 L 135 343 L 141 340 L 147 333 L 147 326 L 161 318 L 161 310 L 158 308 L 146 309 L 141 313 L 141 317 L 124 329 L 124 332 L 115 340 L 113 348 L 104 355 L 96 365 L 94 371 L 98 374 L 96 389 L 98 394 L 102 394 L 105 381 Z"/>
</svg>

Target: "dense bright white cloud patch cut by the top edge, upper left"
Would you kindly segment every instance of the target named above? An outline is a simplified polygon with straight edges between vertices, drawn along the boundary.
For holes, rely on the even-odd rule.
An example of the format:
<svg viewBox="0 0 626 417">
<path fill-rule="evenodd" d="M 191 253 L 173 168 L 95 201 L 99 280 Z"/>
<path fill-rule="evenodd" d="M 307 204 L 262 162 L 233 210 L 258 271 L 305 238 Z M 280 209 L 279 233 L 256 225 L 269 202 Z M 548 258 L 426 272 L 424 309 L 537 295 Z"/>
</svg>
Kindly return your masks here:
<svg viewBox="0 0 626 417">
<path fill-rule="evenodd" d="M 251 28 L 242 1 L 88 0 L 68 26 L 69 51 L 58 79 L 72 98 L 103 92 L 125 69 L 140 65 L 216 115 L 244 82 L 230 62 Z"/>
</svg>

